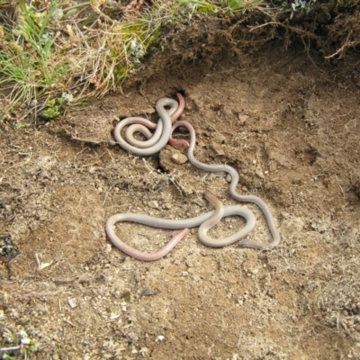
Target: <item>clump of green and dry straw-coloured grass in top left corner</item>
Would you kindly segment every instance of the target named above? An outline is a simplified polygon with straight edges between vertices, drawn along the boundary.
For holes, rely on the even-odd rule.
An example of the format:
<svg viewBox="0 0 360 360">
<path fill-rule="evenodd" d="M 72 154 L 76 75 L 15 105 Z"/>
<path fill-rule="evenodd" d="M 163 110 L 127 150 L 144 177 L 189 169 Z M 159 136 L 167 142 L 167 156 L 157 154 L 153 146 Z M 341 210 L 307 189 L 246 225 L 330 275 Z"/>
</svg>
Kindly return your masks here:
<svg viewBox="0 0 360 360">
<path fill-rule="evenodd" d="M 18 2 L 16 19 L 0 23 L 0 120 L 50 119 L 66 103 L 121 87 L 159 38 L 166 14 L 161 4 L 139 16 L 132 4 L 107 3 Z M 115 10 L 119 20 L 110 16 Z"/>
</svg>

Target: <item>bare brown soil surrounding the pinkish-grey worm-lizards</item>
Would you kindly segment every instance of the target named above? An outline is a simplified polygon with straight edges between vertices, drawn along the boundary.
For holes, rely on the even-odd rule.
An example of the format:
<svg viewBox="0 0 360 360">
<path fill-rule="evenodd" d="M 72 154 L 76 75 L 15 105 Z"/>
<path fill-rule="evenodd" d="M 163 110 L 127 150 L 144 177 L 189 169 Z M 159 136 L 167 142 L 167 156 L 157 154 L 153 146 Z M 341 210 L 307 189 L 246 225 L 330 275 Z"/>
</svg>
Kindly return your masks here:
<svg viewBox="0 0 360 360">
<path fill-rule="evenodd" d="M 14 347 L 2 356 L 360 359 L 360 84 L 276 41 L 199 56 L 202 41 L 181 37 L 123 94 L 0 134 L 1 347 Z M 119 119 L 156 121 L 155 103 L 176 91 L 195 156 L 237 168 L 238 192 L 271 207 L 274 250 L 204 247 L 192 229 L 144 263 L 106 238 L 117 212 L 193 217 L 211 209 L 205 190 L 235 203 L 224 175 L 172 161 L 185 148 L 139 158 L 114 143 Z M 244 206 L 257 215 L 249 238 L 270 241 L 261 212 Z M 211 236 L 239 226 L 223 220 Z M 146 251 L 173 234 L 130 223 L 117 232 Z"/>
</svg>

